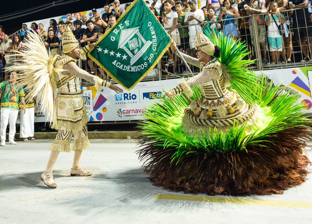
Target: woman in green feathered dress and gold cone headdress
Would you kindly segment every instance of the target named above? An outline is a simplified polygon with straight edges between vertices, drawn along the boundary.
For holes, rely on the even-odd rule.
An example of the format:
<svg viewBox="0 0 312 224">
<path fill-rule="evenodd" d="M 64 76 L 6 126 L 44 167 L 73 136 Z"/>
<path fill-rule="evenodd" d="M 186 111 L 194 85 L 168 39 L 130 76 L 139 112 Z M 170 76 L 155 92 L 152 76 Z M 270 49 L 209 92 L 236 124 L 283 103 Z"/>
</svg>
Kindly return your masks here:
<svg viewBox="0 0 312 224">
<path fill-rule="evenodd" d="M 198 33 L 198 59 L 183 54 L 202 72 L 147 108 L 139 125 L 137 153 L 151 182 L 235 196 L 282 194 L 305 182 L 312 122 L 299 95 L 248 71 L 243 43 L 222 33 L 207 39 Z"/>
</svg>

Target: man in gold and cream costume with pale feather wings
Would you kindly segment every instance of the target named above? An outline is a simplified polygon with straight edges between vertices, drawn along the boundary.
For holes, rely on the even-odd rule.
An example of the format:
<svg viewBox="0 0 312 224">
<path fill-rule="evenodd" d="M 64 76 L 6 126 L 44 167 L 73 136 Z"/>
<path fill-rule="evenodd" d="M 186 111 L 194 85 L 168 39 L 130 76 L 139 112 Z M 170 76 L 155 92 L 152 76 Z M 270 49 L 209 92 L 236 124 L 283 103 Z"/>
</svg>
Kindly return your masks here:
<svg viewBox="0 0 312 224">
<path fill-rule="evenodd" d="M 95 47 L 95 44 L 79 49 L 78 41 L 69 28 L 62 35 L 62 55 L 53 58 L 47 55 L 37 34 L 28 32 L 28 36 L 24 50 L 17 53 L 21 56 L 22 63 L 15 64 L 8 70 L 20 71 L 17 80 L 21 86 L 26 86 L 25 89 L 30 90 L 27 97 L 31 99 L 37 95 L 46 118 L 51 120 L 51 127 L 58 130 L 56 139 L 50 146 L 51 154 L 46 170 L 41 175 L 41 180 L 47 186 L 56 188 L 52 174 L 53 166 L 60 152 L 70 152 L 72 136 L 75 140 L 71 150 L 75 151 L 75 154 L 71 176 L 91 175 L 91 172 L 80 167 L 82 150 L 90 147 L 86 125 L 89 118 L 82 99 L 80 78 L 94 83 L 98 91 L 103 87 L 117 93 L 123 90 L 97 76 L 90 75 L 76 65 L 79 56 L 85 58 L 86 53 Z"/>
</svg>

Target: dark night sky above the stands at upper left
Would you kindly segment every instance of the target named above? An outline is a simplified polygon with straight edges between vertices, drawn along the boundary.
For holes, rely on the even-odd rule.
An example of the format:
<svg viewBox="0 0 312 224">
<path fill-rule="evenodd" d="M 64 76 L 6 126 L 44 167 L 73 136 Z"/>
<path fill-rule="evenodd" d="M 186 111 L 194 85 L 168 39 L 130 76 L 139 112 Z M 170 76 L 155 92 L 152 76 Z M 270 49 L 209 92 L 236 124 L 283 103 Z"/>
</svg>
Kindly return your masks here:
<svg viewBox="0 0 312 224">
<path fill-rule="evenodd" d="M 55 2 L 55 1 L 51 1 L 51 0 L 1 1 L 1 14 L 2 15 L 0 15 L 0 20 L 3 14 L 9 14 L 9 13 L 11 14 L 17 11 L 21 11 L 23 9 L 38 7 L 40 5 Z M 64 0 L 62 2 L 67 2 L 67 1 L 68 0 Z M 35 21 L 39 19 L 65 15 L 68 12 L 82 12 L 82 11 L 90 10 L 92 8 L 101 8 L 101 7 L 104 7 L 105 3 L 112 3 L 113 1 L 114 0 L 103 0 L 103 1 L 101 0 L 79 0 L 77 2 L 72 2 L 72 3 L 44 9 L 39 12 L 34 12 L 26 16 L 21 16 L 21 17 L 9 19 L 6 21 L 0 21 L 0 25 L 3 26 L 5 33 L 11 34 L 12 32 L 15 32 L 18 29 L 21 29 L 23 22 L 30 22 L 30 21 Z M 127 3 L 127 2 L 131 2 L 131 0 L 128 0 L 128 1 L 120 0 L 120 4 Z"/>
</svg>

